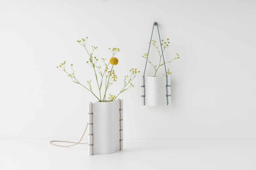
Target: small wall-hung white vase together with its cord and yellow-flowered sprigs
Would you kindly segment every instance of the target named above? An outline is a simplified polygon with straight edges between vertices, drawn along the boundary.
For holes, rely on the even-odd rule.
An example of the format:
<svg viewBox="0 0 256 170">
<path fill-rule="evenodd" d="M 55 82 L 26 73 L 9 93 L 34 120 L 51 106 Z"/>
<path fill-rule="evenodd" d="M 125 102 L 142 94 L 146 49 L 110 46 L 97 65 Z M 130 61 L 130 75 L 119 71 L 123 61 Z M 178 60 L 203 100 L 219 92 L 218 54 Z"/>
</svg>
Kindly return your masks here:
<svg viewBox="0 0 256 170">
<path fill-rule="evenodd" d="M 154 30 L 154 26 L 153 26 Z M 158 30 L 158 25 L 157 25 Z M 153 34 L 153 31 L 152 31 Z M 159 34 L 159 31 L 158 31 Z M 141 105 L 148 105 L 148 106 L 158 106 L 158 105 L 170 105 L 171 103 L 171 81 L 170 76 L 171 74 L 170 70 L 166 69 L 166 64 L 171 63 L 175 59 L 179 59 L 179 55 L 176 54 L 174 59 L 166 61 L 164 59 L 164 51 L 170 47 L 169 45 L 169 38 L 167 38 L 167 41 L 160 39 L 159 34 L 159 41 L 160 41 L 160 47 L 156 45 L 156 41 L 152 40 L 152 35 L 149 42 L 149 49 L 150 45 L 152 44 L 155 49 L 158 51 L 159 54 L 159 63 L 157 65 L 153 64 L 149 59 L 149 52 L 145 53 L 142 57 L 146 59 L 146 65 L 144 74 L 141 77 Z M 152 76 L 145 76 L 146 66 L 147 62 L 154 68 L 154 75 Z M 152 68 L 151 67 L 151 68 Z M 160 67 L 164 67 L 165 74 L 162 74 L 160 76 L 157 76 L 157 71 Z"/>
</svg>

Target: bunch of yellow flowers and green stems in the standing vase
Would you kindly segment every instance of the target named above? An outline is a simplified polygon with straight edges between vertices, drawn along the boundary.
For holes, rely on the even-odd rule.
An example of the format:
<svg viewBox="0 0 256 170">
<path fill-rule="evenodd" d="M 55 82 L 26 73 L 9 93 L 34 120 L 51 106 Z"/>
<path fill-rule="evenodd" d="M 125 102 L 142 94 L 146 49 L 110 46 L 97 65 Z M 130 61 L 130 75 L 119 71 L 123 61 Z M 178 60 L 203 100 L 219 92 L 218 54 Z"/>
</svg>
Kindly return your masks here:
<svg viewBox="0 0 256 170">
<path fill-rule="evenodd" d="M 120 91 L 120 93 L 115 96 L 115 95 L 111 95 L 109 94 L 109 97 L 108 97 L 108 100 L 106 99 L 106 93 L 107 93 L 107 90 L 110 88 L 110 86 L 117 81 L 117 75 L 115 74 L 115 71 L 113 70 L 113 66 L 114 65 L 117 65 L 118 64 L 118 59 L 115 57 L 115 55 L 120 51 L 119 48 L 109 48 L 109 50 L 111 51 L 112 53 L 112 57 L 111 59 L 109 60 L 110 62 L 106 62 L 107 58 L 101 58 L 101 60 L 103 61 L 104 63 L 104 67 L 102 68 L 101 70 L 101 65 L 97 65 L 98 64 L 98 58 L 96 56 L 94 56 L 94 51 L 98 48 L 97 46 L 91 46 L 91 53 L 88 52 L 88 49 L 86 47 L 86 44 L 87 44 L 87 40 L 88 40 L 88 37 L 86 38 L 82 38 L 81 40 L 78 40 L 77 42 L 82 45 L 88 56 L 89 56 L 89 59 L 88 61 L 86 61 L 86 63 L 93 68 L 94 70 L 94 74 L 95 74 L 95 78 L 96 78 L 96 82 L 97 82 L 97 86 L 98 86 L 98 89 L 99 89 L 99 97 L 97 97 L 93 91 L 92 91 L 92 86 L 91 86 L 91 81 L 92 80 L 88 80 L 87 83 L 88 83 L 88 86 L 89 88 L 83 86 L 75 77 L 75 73 L 74 73 L 74 70 L 73 70 L 73 64 L 71 64 L 71 74 L 68 73 L 66 71 L 66 61 L 64 61 L 63 63 L 61 63 L 59 66 L 57 66 L 58 70 L 60 71 L 64 71 L 68 74 L 68 76 L 72 79 L 73 82 L 77 83 L 77 84 L 80 84 L 82 85 L 84 88 L 86 88 L 88 91 L 90 91 L 100 102 L 107 102 L 107 101 L 113 101 L 117 98 L 117 96 L 124 92 L 125 90 L 127 90 L 128 88 L 131 88 L 133 87 L 133 85 L 131 84 L 131 81 L 135 78 L 135 76 L 137 76 L 137 74 L 140 72 L 140 71 L 137 71 L 137 69 L 131 69 L 130 72 L 131 72 L 131 75 L 130 76 L 125 76 L 125 84 L 124 84 L 124 88 L 122 88 L 122 90 Z M 112 65 L 111 69 L 109 69 L 109 65 Z M 97 71 L 96 71 L 97 70 Z M 99 74 L 99 78 L 97 76 L 97 74 Z M 104 76 L 105 75 L 105 76 Z M 103 80 L 105 82 L 105 91 L 104 91 L 104 95 L 103 97 L 101 97 L 101 88 L 102 86 L 104 86 L 103 84 Z M 130 86 L 128 87 L 128 84 L 130 84 Z"/>
</svg>

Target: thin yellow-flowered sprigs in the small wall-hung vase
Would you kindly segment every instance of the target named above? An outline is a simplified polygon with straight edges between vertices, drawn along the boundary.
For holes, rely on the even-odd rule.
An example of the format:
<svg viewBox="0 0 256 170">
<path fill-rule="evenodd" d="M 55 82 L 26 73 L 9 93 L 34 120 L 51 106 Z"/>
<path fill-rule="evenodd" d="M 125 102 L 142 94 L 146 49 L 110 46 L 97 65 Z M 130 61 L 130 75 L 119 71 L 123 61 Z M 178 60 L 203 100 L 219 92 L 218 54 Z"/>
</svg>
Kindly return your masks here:
<svg viewBox="0 0 256 170">
<path fill-rule="evenodd" d="M 165 50 L 166 48 L 170 47 L 169 38 L 167 38 L 166 40 L 167 40 L 167 41 L 161 40 L 161 45 L 162 45 L 162 48 L 163 48 L 163 52 L 164 52 L 164 50 Z M 160 66 L 162 66 L 162 65 L 164 65 L 164 64 L 166 64 L 166 63 L 171 63 L 171 61 L 173 61 L 174 59 L 179 59 L 179 58 L 180 58 L 179 55 L 176 54 L 176 56 L 175 56 L 174 59 L 172 59 L 172 60 L 170 60 L 170 61 L 166 61 L 166 62 L 164 62 L 164 63 L 161 64 L 161 59 L 162 59 L 163 52 L 162 52 L 162 51 L 160 52 L 161 49 L 158 48 L 157 45 L 155 45 L 155 44 L 156 44 L 156 41 L 155 41 L 155 40 L 151 40 L 151 43 L 154 45 L 154 47 L 157 49 L 157 51 L 158 51 L 158 53 L 159 53 L 159 56 L 160 56 L 159 64 L 158 64 L 158 65 L 152 64 L 151 61 L 150 61 L 149 58 L 148 58 L 148 53 L 144 54 L 142 57 L 143 57 L 143 58 L 147 58 L 147 59 L 148 59 L 148 62 L 154 67 L 154 69 L 155 69 L 155 75 L 156 75 L 156 72 L 158 71 L 158 69 L 159 69 Z M 168 74 L 168 73 L 167 73 L 167 74 Z M 154 75 L 154 76 L 155 76 L 155 75 Z M 164 74 L 164 75 L 166 75 L 166 74 Z"/>
</svg>

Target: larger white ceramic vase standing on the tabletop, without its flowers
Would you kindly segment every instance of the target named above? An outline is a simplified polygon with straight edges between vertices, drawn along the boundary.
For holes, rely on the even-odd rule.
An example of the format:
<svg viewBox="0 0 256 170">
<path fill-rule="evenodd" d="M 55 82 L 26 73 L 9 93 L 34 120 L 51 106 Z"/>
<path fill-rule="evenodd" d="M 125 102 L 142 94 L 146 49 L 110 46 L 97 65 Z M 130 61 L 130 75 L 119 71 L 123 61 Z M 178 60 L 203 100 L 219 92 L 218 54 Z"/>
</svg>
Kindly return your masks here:
<svg viewBox="0 0 256 170">
<path fill-rule="evenodd" d="M 123 149 L 123 99 L 88 103 L 88 123 L 89 155 L 111 154 Z"/>
</svg>

